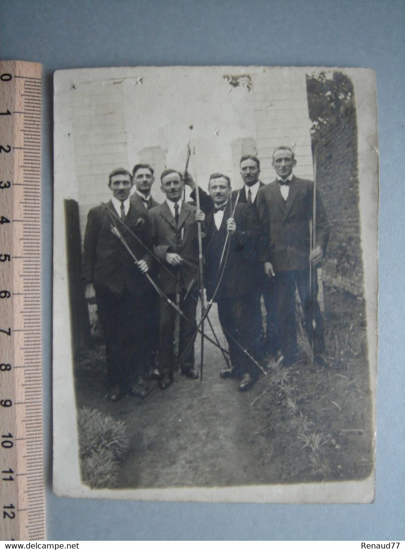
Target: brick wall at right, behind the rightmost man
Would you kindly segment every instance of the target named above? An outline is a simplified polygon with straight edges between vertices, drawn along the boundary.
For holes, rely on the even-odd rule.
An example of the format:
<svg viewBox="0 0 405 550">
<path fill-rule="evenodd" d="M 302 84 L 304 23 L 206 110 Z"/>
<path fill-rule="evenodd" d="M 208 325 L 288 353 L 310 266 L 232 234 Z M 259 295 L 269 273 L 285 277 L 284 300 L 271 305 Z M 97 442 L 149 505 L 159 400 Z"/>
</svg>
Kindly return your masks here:
<svg viewBox="0 0 405 550">
<path fill-rule="evenodd" d="M 331 233 L 325 283 L 363 296 L 356 117 L 330 128 L 316 145 L 317 185 Z"/>
</svg>

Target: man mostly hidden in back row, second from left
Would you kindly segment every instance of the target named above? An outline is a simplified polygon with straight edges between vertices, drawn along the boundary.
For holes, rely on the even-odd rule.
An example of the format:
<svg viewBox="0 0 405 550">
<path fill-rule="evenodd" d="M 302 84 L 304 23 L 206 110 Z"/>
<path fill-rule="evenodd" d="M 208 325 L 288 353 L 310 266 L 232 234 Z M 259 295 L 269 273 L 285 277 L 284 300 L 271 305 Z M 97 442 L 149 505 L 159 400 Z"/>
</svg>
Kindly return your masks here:
<svg viewBox="0 0 405 550">
<path fill-rule="evenodd" d="M 158 202 L 151 196 L 151 187 L 155 181 L 154 169 L 150 164 L 135 164 L 132 169 L 134 192 L 130 196 L 131 204 L 139 211 L 148 211 L 158 206 Z M 150 276 L 157 282 L 156 262 L 152 262 L 149 271 Z M 147 349 L 148 361 L 142 378 L 147 380 L 150 376 L 158 376 L 155 368 L 155 359 L 159 351 L 159 296 L 152 285 L 147 288 L 145 302 L 148 304 L 145 310 L 145 348 Z"/>
</svg>

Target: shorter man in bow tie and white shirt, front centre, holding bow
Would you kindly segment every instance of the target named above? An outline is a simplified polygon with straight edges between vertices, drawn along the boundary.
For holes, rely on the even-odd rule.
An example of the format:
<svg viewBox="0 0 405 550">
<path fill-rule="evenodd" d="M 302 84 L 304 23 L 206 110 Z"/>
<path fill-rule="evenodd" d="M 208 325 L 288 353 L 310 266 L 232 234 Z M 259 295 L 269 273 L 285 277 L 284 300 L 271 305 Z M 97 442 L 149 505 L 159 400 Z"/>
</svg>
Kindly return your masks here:
<svg viewBox="0 0 405 550">
<path fill-rule="evenodd" d="M 215 210 L 206 217 L 205 223 L 207 300 L 213 298 L 217 303 L 232 363 L 232 368 L 220 375 L 222 378 L 241 378 L 239 390 L 243 392 L 249 390 L 259 376 L 258 367 L 235 340 L 257 360 L 262 334 L 260 294 L 256 290 L 255 276 L 260 256 L 260 226 L 246 204 L 238 202 L 232 217 L 232 204 L 235 203 L 229 200 L 232 189 L 226 175 L 212 174 L 208 189 Z M 228 250 L 222 256 L 227 233 L 230 233 Z"/>
</svg>

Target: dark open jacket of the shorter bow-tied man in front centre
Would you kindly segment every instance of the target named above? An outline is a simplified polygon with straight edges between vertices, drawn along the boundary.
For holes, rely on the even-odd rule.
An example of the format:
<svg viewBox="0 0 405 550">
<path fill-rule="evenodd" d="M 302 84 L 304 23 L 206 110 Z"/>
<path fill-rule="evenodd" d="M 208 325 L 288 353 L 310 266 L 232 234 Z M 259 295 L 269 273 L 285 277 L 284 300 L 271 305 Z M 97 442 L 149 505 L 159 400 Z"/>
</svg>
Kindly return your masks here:
<svg viewBox="0 0 405 550">
<path fill-rule="evenodd" d="M 208 300 L 212 298 L 219 281 L 218 267 L 227 235 L 227 220 L 231 216 L 230 208 L 229 202 L 224 210 L 219 230 L 216 228 L 213 212 L 205 219 L 204 283 Z M 217 297 L 241 296 L 258 290 L 256 271 L 257 266 L 261 265 L 261 228 L 248 205 L 238 203 L 234 217 L 237 230 L 230 237 L 228 256 L 224 255 L 223 261 L 227 261 Z"/>
</svg>

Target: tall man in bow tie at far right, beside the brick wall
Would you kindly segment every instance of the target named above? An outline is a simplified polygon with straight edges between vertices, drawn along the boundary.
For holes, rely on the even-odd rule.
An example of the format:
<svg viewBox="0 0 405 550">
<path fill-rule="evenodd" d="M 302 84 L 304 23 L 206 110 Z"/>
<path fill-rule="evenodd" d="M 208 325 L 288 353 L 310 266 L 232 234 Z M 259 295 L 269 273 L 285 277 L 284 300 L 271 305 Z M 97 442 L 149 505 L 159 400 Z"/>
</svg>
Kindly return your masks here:
<svg viewBox="0 0 405 550">
<path fill-rule="evenodd" d="M 267 233 L 263 256 L 267 277 L 275 285 L 278 304 L 280 351 L 284 365 L 294 363 L 297 354 L 295 289 L 298 289 L 308 339 L 313 343 L 315 360 L 324 364 L 323 320 L 317 301 L 316 267 L 322 260 L 329 239 L 328 219 L 316 193 L 316 247 L 311 251 L 313 182 L 297 178 L 294 151 L 280 146 L 273 153 L 272 166 L 277 179 L 257 193 L 257 210 Z M 310 292 L 310 262 L 316 283 Z"/>
</svg>

